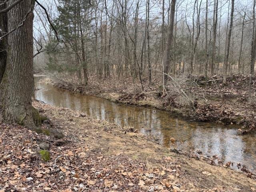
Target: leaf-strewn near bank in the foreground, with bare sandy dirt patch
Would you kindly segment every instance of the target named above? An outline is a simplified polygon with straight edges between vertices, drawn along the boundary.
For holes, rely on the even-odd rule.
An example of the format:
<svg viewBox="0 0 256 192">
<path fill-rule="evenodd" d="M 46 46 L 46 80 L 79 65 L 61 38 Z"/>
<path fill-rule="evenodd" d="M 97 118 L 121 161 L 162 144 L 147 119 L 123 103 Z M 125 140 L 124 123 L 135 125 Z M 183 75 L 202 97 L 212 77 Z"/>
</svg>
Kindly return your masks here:
<svg viewBox="0 0 256 192">
<path fill-rule="evenodd" d="M 256 191 L 249 172 L 177 154 L 129 127 L 83 112 L 40 102 L 33 106 L 48 117 L 43 130 L 56 128 L 65 137 L 0 122 L 0 192 Z"/>
</svg>

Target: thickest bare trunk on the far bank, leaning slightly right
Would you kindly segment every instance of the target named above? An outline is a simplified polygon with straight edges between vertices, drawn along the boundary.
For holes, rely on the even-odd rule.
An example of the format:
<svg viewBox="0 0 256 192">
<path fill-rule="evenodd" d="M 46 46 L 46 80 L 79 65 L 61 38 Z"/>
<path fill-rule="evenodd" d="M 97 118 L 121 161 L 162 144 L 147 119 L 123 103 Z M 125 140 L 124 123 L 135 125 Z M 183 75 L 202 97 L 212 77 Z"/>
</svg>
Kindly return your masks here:
<svg viewBox="0 0 256 192">
<path fill-rule="evenodd" d="M 165 74 L 168 74 L 168 72 L 170 70 L 175 4 L 176 4 L 176 0 L 172 0 L 171 12 L 170 12 L 170 23 L 169 23 L 168 36 L 167 36 L 166 47 L 165 47 L 165 54 L 164 54 L 164 64 L 163 64 L 164 65 L 164 81 L 167 78 L 167 75 L 165 75 Z"/>
</svg>

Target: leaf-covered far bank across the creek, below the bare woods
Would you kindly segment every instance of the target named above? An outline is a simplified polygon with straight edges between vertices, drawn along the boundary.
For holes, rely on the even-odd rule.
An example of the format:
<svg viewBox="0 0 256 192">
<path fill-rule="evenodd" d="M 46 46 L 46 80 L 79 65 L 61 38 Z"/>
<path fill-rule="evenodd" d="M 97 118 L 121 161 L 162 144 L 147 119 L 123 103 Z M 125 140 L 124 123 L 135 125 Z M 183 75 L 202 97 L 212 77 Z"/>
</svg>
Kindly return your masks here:
<svg viewBox="0 0 256 192">
<path fill-rule="evenodd" d="M 167 110 L 190 120 L 240 124 L 244 126 L 240 130 L 242 133 L 256 126 L 256 77 L 252 78 L 252 99 L 249 102 L 247 75 L 229 76 L 226 85 L 222 84 L 222 76 L 216 75 L 208 78 L 191 75 L 174 78 L 174 81 L 169 80 L 166 84 L 165 94 L 160 78 L 152 80 L 152 84 L 144 82 L 143 91 L 140 84 L 132 84 L 129 78 L 98 80 L 92 76 L 87 86 L 74 80 L 46 78 L 43 81 L 58 88 L 100 96 L 114 102 Z"/>
</svg>

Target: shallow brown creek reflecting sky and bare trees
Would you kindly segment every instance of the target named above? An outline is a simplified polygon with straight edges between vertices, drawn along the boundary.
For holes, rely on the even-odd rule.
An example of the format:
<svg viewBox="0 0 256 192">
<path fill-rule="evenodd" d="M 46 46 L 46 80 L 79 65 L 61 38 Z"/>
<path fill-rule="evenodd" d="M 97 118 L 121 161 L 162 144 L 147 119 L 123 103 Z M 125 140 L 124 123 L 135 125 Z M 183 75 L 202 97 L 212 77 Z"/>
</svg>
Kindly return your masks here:
<svg viewBox="0 0 256 192">
<path fill-rule="evenodd" d="M 95 96 L 72 93 L 40 83 L 40 78 L 35 77 L 35 88 L 38 89 L 35 97 L 46 104 L 81 110 L 95 118 L 122 126 L 133 126 L 166 147 L 194 153 L 201 150 L 204 156 L 217 155 L 223 162 L 234 162 L 234 169 L 237 169 L 236 163 L 241 163 L 256 171 L 255 134 L 241 136 L 233 125 L 191 122 L 154 108 L 128 106 Z M 173 144 L 170 138 L 175 138 L 177 142 Z"/>
</svg>

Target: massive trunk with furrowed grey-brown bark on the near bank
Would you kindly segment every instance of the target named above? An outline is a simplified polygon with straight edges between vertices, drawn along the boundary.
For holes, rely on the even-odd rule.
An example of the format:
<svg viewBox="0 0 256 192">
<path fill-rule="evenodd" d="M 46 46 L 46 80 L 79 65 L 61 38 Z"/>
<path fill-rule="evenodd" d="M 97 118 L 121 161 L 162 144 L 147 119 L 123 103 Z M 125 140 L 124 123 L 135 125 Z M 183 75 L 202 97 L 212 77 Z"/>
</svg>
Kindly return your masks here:
<svg viewBox="0 0 256 192">
<path fill-rule="evenodd" d="M 9 0 L 8 5 L 15 0 Z M 8 6 L 7 5 L 7 6 Z M 26 18 L 24 24 L 8 34 L 6 69 L 0 82 L 0 105 L 4 119 L 27 126 L 33 126 L 33 8 L 34 1 L 24 0 L 8 13 L 8 31 Z"/>
</svg>

